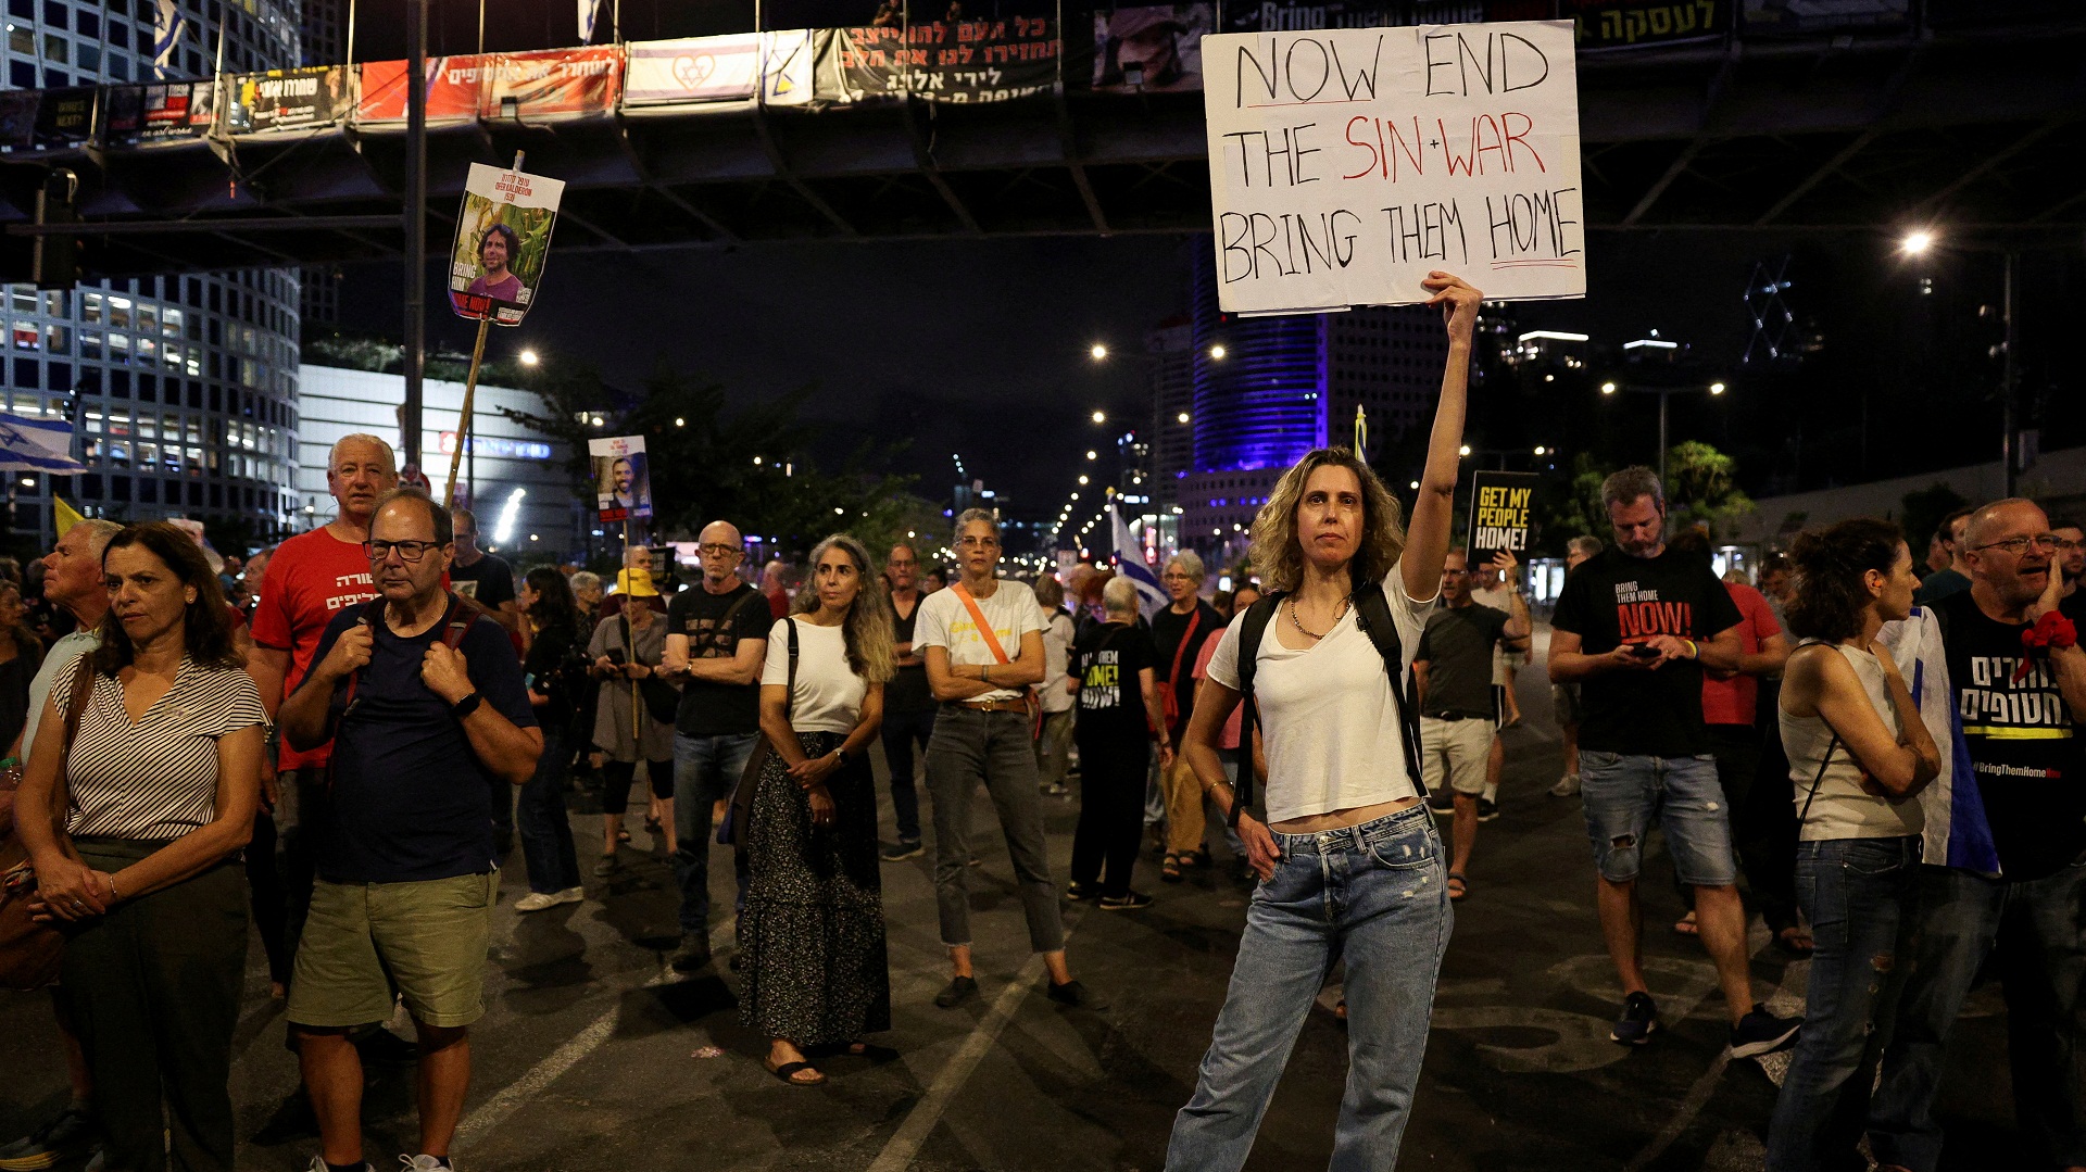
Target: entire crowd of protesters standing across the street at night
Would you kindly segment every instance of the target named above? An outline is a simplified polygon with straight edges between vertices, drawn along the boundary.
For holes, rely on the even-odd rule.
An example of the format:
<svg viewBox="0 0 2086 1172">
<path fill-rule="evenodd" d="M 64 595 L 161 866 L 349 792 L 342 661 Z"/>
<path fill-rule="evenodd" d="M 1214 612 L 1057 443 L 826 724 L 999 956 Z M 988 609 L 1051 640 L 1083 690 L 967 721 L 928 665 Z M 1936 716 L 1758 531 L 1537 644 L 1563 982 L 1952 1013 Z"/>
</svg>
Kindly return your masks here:
<svg viewBox="0 0 2086 1172">
<path fill-rule="evenodd" d="M 1517 557 L 1450 544 L 1479 294 L 1427 286 L 1450 348 L 1410 513 L 1350 450 L 1314 450 L 1227 590 L 1187 551 L 1149 594 L 1087 565 L 1003 578 L 983 509 L 953 517 L 947 569 L 834 534 L 801 571 L 755 573 L 718 519 L 686 588 L 642 546 L 607 588 L 517 573 L 467 509 L 398 488 L 375 436 L 330 453 L 330 523 L 244 563 L 169 523 L 90 519 L 33 588 L 0 567 L 0 742 L 31 909 L 65 932 L 50 1005 L 71 1076 L 0 1168 L 90 1151 L 125 1172 L 232 1168 L 248 932 L 284 999 L 311 1172 L 371 1168 L 371 1061 L 415 1066 L 401 1162 L 451 1168 L 499 868 L 519 849 L 517 913 L 613 899 L 634 786 L 678 895 L 672 968 L 728 947 L 761 1064 L 791 1086 L 893 1026 L 882 865 L 932 851 L 932 1003 L 980 995 L 978 797 L 1066 1011 L 1108 1007 L 1074 976 L 1068 903 L 1147 909 L 1141 865 L 1177 884 L 1229 859 L 1252 899 L 1166 1168 L 1245 1164 L 1335 970 L 1350 1070 L 1331 1166 L 1391 1168 L 1456 903 L 1483 899 L 1471 868 L 1523 719 L 1514 676 L 1542 642 Z M 2086 1168 L 2086 532 L 2030 500 L 1963 509 L 1921 582 L 1896 526 L 1854 519 L 1746 582 L 1669 523 L 1648 469 L 1610 475 L 1602 507 L 1608 532 L 1569 542 L 1544 667 L 1564 751 L 1550 792 L 1579 799 L 1621 991 L 1610 1041 L 1660 1028 L 1638 886 L 1658 830 L 1652 870 L 1715 963 L 1729 1055 L 1794 1049 L 1769 1168 L 1859 1166 L 1867 1143 L 1886 1170 L 1934 1172 L 1942 1049 L 1986 968 L 2026 1143 Z M 599 803 L 578 836 L 576 790 Z M 1062 886 L 1053 803 L 1076 803 Z M 1754 999 L 1754 913 L 1811 957 L 1800 1018 Z M 401 1011 L 411 1041 L 384 1028 Z"/>
</svg>

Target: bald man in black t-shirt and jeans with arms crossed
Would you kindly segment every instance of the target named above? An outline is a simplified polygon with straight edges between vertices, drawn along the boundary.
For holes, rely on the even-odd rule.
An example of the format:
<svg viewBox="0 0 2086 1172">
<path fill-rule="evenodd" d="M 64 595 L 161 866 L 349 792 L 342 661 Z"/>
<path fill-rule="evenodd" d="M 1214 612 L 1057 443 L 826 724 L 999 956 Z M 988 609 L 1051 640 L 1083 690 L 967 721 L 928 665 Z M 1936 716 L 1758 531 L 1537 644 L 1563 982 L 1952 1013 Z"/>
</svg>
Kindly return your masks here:
<svg viewBox="0 0 2086 1172">
<path fill-rule="evenodd" d="M 738 578 L 745 559 L 738 530 L 711 521 L 697 542 L 703 582 L 668 603 L 659 663 L 661 676 L 686 680 L 674 719 L 674 832 L 680 836 L 674 878 L 682 932 L 674 972 L 709 963 L 709 809 L 738 784 L 759 740 L 759 680 L 774 621 L 761 592 Z"/>
</svg>

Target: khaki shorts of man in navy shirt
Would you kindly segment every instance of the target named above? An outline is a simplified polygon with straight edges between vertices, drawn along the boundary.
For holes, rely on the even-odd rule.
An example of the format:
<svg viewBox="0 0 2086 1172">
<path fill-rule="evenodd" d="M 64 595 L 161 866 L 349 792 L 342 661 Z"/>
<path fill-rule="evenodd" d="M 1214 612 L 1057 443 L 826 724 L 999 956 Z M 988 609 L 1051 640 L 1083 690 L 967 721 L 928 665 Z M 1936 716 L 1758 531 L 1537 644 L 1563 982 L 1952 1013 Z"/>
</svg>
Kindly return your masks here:
<svg viewBox="0 0 2086 1172">
<path fill-rule="evenodd" d="M 288 1018 L 346 1028 L 384 1022 L 392 986 L 428 1026 L 469 1026 L 486 1011 L 486 941 L 501 874 L 421 882 L 325 882 L 296 945 Z"/>
</svg>

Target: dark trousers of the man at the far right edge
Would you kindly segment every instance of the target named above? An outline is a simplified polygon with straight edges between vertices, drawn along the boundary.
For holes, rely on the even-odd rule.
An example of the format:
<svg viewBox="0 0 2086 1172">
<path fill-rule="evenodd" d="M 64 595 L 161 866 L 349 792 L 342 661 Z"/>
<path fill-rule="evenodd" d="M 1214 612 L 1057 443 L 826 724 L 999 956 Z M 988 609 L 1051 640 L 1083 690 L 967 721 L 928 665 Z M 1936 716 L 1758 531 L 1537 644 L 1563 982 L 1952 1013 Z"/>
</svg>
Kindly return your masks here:
<svg viewBox="0 0 2086 1172">
<path fill-rule="evenodd" d="M 1869 1109 L 1869 1151 L 1877 1164 L 1934 1172 L 1942 1128 L 1934 1089 L 1942 1045 L 1963 1011 L 1978 966 L 1996 953 L 2007 993 L 2007 1057 L 2013 1114 L 2028 1143 L 2023 1168 L 2086 1164 L 2080 1134 L 2080 982 L 2086 980 L 2086 863 L 2038 880 L 1984 878 L 1952 868 L 1919 868 L 1919 915 L 1898 1024 L 1884 1049 L 1884 1082 Z"/>
</svg>

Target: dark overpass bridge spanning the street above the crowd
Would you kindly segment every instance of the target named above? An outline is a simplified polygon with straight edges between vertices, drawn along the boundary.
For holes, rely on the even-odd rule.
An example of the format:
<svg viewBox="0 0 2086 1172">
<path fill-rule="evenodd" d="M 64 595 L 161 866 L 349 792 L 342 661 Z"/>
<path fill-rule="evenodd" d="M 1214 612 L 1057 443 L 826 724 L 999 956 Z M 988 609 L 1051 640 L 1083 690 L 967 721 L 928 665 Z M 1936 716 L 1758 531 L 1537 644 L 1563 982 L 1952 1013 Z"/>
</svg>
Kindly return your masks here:
<svg viewBox="0 0 2086 1172">
<path fill-rule="evenodd" d="M 1081 69 L 1091 58 L 1058 52 L 1033 94 L 976 104 L 895 94 L 647 108 L 626 92 L 592 115 L 540 119 L 501 104 L 430 123 L 428 234 L 448 236 L 471 163 L 507 165 L 515 150 L 567 184 L 561 252 L 1208 231 L 1202 94 L 1068 86 Z M 1932 221 L 2009 246 L 2086 229 L 2086 17 L 1727 33 L 1581 52 L 1579 79 L 1592 229 Z M 35 192 L 67 173 L 81 277 L 403 254 L 401 121 L 350 108 L 242 133 L 217 117 L 194 138 L 129 142 L 104 133 L 106 96 L 81 102 L 90 133 L 0 152 L 0 279 L 27 279 Z"/>
</svg>

